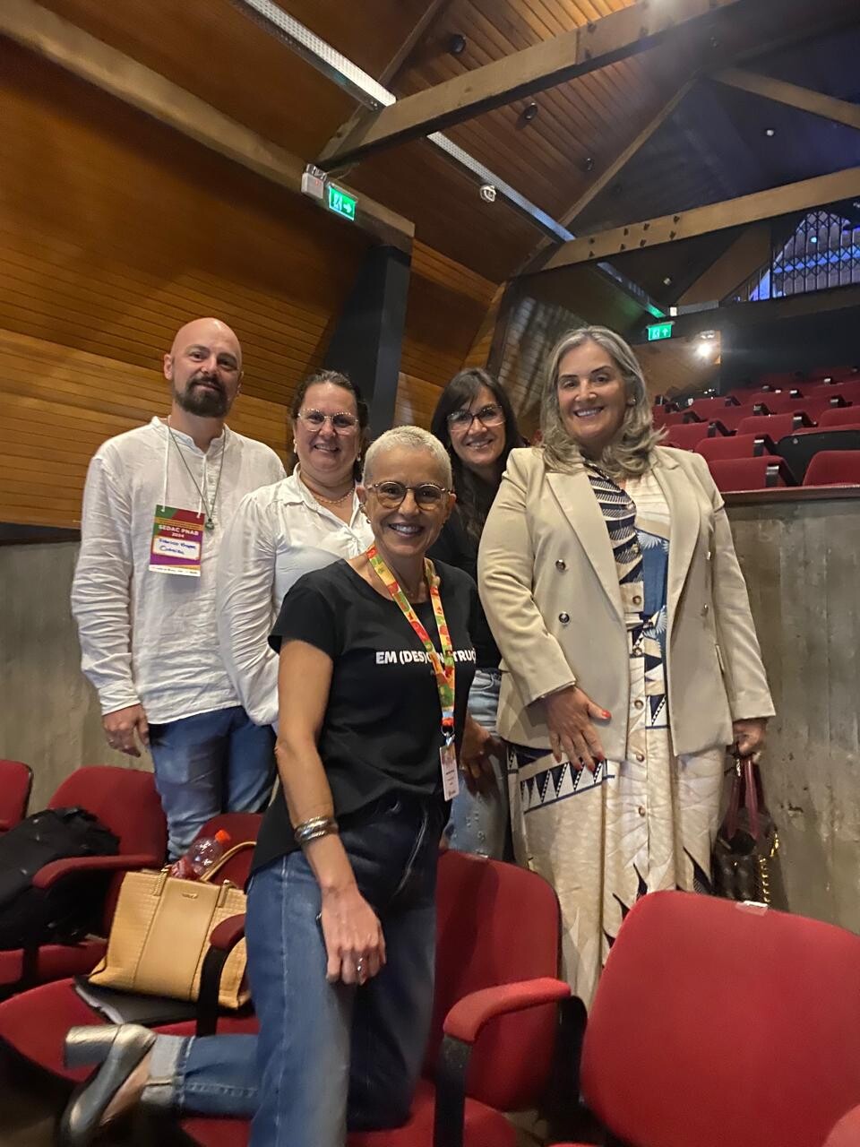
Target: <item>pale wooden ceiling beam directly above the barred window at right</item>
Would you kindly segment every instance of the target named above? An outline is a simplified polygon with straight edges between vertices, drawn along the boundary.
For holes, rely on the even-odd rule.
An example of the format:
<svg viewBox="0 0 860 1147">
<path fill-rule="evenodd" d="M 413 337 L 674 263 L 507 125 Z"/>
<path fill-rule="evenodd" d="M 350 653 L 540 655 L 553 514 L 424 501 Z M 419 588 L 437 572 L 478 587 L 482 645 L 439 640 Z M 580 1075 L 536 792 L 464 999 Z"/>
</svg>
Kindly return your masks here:
<svg viewBox="0 0 860 1147">
<path fill-rule="evenodd" d="M 639 251 L 646 247 L 677 243 L 694 235 L 758 223 L 760 219 L 772 219 L 792 211 L 807 211 L 857 196 L 860 196 L 860 167 L 849 167 L 767 192 L 755 192 L 722 203 L 711 203 L 691 211 L 679 211 L 677 214 L 573 239 L 569 243 L 562 243 L 538 274 Z"/>
</svg>

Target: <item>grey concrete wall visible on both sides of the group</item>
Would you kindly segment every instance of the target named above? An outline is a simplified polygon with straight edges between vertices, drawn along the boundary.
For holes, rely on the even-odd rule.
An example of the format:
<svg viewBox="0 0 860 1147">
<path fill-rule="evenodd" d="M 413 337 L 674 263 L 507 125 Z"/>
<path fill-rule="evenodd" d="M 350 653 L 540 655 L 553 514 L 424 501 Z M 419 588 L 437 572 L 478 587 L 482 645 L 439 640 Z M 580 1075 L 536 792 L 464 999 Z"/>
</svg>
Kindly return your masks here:
<svg viewBox="0 0 860 1147">
<path fill-rule="evenodd" d="M 737 501 L 729 516 L 779 713 L 763 777 L 788 905 L 860 931 L 860 499 Z M 78 765 L 130 764 L 104 744 L 79 671 L 76 553 L 0 546 L 0 756 L 36 770 L 31 809 Z"/>
</svg>

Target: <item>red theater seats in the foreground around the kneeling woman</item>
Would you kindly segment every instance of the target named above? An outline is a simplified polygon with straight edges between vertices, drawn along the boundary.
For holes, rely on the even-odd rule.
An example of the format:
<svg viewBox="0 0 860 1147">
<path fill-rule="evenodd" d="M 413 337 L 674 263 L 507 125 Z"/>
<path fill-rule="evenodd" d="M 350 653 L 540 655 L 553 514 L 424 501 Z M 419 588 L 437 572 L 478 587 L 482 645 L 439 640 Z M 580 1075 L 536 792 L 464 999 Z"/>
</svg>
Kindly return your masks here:
<svg viewBox="0 0 860 1147">
<path fill-rule="evenodd" d="M 112 865 L 118 873 L 143 859 L 130 845 L 163 850 L 151 774 L 79 770 L 55 803 L 72 796 L 124 830 L 123 857 L 108 858 L 122 860 Z M 132 811 L 148 825 L 134 841 L 126 838 L 135 828 Z M 234 840 L 250 840 L 260 819 L 227 814 L 204 832 L 218 825 Z M 249 860 L 247 852 L 233 858 L 222 875 L 242 884 Z M 409 1119 L 353 1132 L 349 1147 L 514 1147 L 503 1111 L 533 1109 L 549 1095 L 557 1115 L 570 1118 L 580 1092 L 611 1136 L 631 1147 L 857 1147 L 843 1119 L 860 1103 L 860 997 L 853 990 L 860 938 L 852 933 L 760 905 L 656 892 L 625 920 L 586 1020 L 556 978 L 558 905 L 535 873 L 448 851 L 439 860 L 437 912 L 433 1032 Z M 524 919 L 527 928 L 517 927 Z M 227 950 L 241 936 L 242 918 L 234 918 L 216 930 L 213 946 Z M 205 992 L 217 997 L 217 975 L 204 978 Z M 752 1014 L 758 1038 L 738 1040 Z M 88 1069 L 63 1066 L 65 1031 L 102 1022 L 69 978 L 0 1004 L 0 1040 L 67 1083 Z M 217 1027 L 253 1032 L 256 1021 L 221 1015 Z M 157 1030 L 191 1035 L 195 1024 Z M 803 1040 L 791 1038 L 797 1031 Z M 839 1136 L 828 1138 L 837 1121 Z M 249 1141 L 247 1121 L 236 1118 L 186 1116 L 182 1132 L 200 1147 Z"/>
</svg>

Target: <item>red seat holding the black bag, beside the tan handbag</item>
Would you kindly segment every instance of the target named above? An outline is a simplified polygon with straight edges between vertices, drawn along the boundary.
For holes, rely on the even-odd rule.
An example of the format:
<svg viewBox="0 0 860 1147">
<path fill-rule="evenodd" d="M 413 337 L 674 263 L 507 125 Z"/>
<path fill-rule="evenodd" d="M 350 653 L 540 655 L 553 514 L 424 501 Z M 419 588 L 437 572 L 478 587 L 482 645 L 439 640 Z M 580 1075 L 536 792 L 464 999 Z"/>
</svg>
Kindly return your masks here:
<svg viewBox="0 0 860 1147">
<path fill-rule="evenodd" d="M 58 880 L 110 881 L 105 897 L 103 934 L 114 916 L 123 875 L 130 868 L 161 867 L 166 849 L 166 825 L 153 774 L 136 768 L 92 765 L 78 768 L 54 796 L 48 807 L 80 806 L 94 813 L 119 837 L 119 853 L 56 860 L 37 873 L 33 883 L 49 888 Z M 89 937 L 79 944 L 42 944 L 32 951 L 0 951 L 0 990 L 89 972 L 104 952 L 104 941 Z"/>
</svg>

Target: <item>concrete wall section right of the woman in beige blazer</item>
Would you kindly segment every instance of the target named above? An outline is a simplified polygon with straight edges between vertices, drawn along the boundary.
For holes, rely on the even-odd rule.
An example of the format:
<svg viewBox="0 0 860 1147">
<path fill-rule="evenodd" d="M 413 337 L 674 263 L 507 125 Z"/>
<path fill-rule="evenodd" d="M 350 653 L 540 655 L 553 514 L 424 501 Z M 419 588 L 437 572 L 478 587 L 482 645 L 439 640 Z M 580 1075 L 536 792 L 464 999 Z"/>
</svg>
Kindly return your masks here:
<svg viewBox="0 0 860 1147">
<path fill-rule="evenodd" d="M 761 768 L 788 906 L 860 931 L 860 499 L 729 517 L 777 712 Z"/>
</svg>

